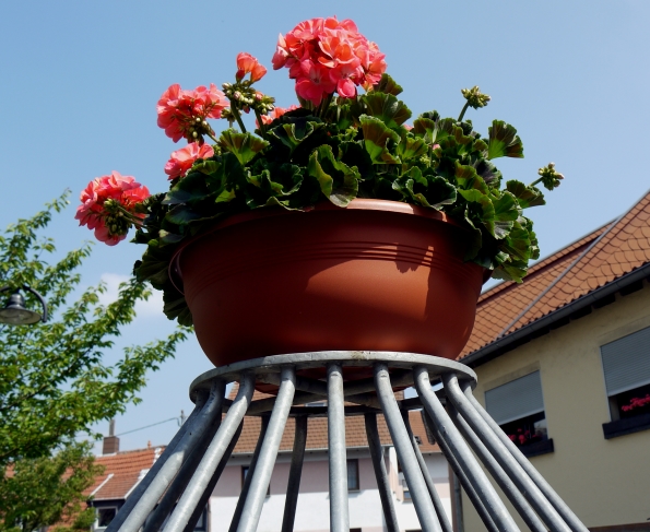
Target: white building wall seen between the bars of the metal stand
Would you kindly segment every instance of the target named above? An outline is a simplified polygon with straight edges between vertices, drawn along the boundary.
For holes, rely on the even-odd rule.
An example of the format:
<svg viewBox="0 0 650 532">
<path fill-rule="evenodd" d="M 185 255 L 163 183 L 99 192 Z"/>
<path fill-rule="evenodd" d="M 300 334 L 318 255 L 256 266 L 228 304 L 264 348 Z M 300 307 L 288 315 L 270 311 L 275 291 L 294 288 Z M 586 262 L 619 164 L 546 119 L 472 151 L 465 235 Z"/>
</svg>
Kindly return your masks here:
<svg viewBox="0 0 650 532">
<path fill-rule="evenodd" d="M 305 457 L 300 495 L 296 509 L 294 530 L 296 532 L 326 532 L 330 530 L 329 478 L 327 452 L 308 452 Z M 363 532 L 382 532 L 386 530 L 379 492 L 375 482 L 373 463 L 367 449 L 348 450 L 348 459 L 359 461 L 358 492 L 350 493 L 350 528 L 362 529 Z M 231 461 L 217 483 L 210 499 L 209 532 L 227 532 L 241 484 L 241 465 L 247 465 L 250 458 L 238 457 Z M 258 527 L 259 532 L 280 532 L 284 513 L 285 489 L 288 480 L 291 457 L 281 454 L 277 458 L 271 477 L 271 495 L 264 500 Z M 447 516 L 451 519 L 449 482 L 447 478 L 447 461 L 441 453 L 425 454 L 429 474 L 442 500 Z M 419 530 L 413 503 L 404 498 L 404 483 L 397 472 L 394 449 L 387 453 L 387 469 L 391 481 L 391 489 L 398 523 L 401 531 Z"/>
</svg>

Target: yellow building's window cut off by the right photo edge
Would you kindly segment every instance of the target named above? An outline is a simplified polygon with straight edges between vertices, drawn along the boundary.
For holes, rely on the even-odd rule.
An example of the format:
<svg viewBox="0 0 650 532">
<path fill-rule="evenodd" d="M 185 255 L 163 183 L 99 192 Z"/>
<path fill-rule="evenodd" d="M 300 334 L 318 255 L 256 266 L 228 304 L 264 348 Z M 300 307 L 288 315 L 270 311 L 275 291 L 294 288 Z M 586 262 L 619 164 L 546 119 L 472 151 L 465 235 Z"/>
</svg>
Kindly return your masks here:
<svg viewBox="0 0 650 532">
<path fill-rule="evenodd" d="M 605 438 L 650 428 L 650 327 L 603 345 L 601 358 L 612 419 Z"/>
</svg>

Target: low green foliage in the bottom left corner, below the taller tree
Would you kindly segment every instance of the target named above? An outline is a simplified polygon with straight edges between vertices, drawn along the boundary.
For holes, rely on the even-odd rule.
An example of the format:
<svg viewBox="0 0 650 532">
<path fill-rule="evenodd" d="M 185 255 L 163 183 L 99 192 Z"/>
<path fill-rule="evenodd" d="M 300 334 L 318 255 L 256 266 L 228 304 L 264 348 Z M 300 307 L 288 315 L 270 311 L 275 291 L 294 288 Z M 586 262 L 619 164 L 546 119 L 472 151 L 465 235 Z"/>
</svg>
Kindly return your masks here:
<svg viewBox="0 0 650 532">
<path fill-rule="evenodd" d="M 104 468 L 90 444 L 72 442 L 54 457 L 19 460 L 0 478 L 0 531 L 32 532 L 64 522 L 57 532 L 87 531 L 95 521 L 83 492 Z"/>
</svg>

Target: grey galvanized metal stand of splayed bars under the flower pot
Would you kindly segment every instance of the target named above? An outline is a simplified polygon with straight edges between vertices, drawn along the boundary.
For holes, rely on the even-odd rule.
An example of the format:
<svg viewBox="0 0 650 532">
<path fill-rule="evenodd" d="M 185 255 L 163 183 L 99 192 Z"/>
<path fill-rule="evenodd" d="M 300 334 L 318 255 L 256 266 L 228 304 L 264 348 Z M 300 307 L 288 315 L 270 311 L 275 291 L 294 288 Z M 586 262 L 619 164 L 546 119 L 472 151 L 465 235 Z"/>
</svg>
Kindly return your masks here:
<svg viewBox="0 0 650 532">
<path fill-rule="evenodd" d="M 351 366 L 371 368 L 374 378 L 345 381 L 345 368 Z M 297 371 L 312 368 L 327 368 L 327 380 L 296 376 Z M 447 407 L 432 390 L 432 380 L 442 382 L 438 394 L 446 399 Z M 233 381 L 239 382 L 239 390 L 235 400 L 228 401 L 224 398 L 225 387 Z M 251 401 L 256 382 L 277 385 L 277 397 Z M 475 457 L 531 530 L 587 532 L 584 524 L 474 399 L 475 383 L 474 371 L 457 362 L 386 352 L 276 355 L 208 371 L 190 387 L 194 411 L 106 532 L 138 532 L 141 527 L 143 532 L 192 531 L 233 452 L 245 415 L 262 415 L 262 429 L 231 532 L 257 530 L 289 416 L 296 417 L 296 433 L 282 532 L 294 527 L 309 416 L 328 418 L 330 529 L 348 532 L 345 457 L 345 416 L 348 415 L 365 417 L 387 528 L 389 532 L 398 532 L 377 414 L 386 417 L 422 530 L 451 532 L 409 425 L 407 412 L 414 409 L 424 409 L 428 415 L 437 444 L 487 530 L 519 529 Z M 415 386 L 419 397 L 397 401 L 393 389 L 406 386 Z M 323 398 L 327 406 L 294 406 Z M 226 413 L 225 417 L 222 413 Z"/>
</svg>

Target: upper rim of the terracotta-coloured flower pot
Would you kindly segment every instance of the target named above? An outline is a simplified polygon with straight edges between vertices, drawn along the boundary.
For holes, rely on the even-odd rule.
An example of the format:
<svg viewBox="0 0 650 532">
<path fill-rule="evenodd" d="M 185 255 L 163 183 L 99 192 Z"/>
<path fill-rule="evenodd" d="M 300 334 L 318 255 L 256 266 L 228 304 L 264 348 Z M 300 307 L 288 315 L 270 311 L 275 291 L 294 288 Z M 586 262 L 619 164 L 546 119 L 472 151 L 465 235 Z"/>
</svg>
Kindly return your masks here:
<svg viewBox="0 0 650 532">
<path fill-rule="evenodd" d="M 214 233 L 215 230 L 223 229 L 224 227 L 229 227 L 232 225 L 237 225 L 237 224 L 241 224 L 241 223 L 246 223 L 246 222 L 252 222 L 252 221 L 271 217 L 271 216 L 282 216 L 282 215 L 287 215 L 287 214 L 293 214 L 293 213 L 303 214 L 303 213 L 309 213 L 309 212 L 315 212 L 315 211 L 340 212 L 340 211 L 344 211 L 344 210 L 380 211 L 380 212 L 393 212 L 397 214 L 406 214 L 406 215 L 410 214 L 410 215 L 415 215 L 415 216 L 434 220 L 434 221 L 441 222 L 445 224 L 450 224 L 454 227 L 458 227 L 461 230 L 468 232 L 468 229 L 465 227 L 463 227 L 459 222 L 447 216 L 441 211 L 436 211 L 435 209 L 414 205 L 412 203 L 404 203 L 401 201 L 377 200 L 377 199 L 369 199 L 369 198 L 355 198 L 346 206 L 338 206 L 338 205 L 334 205 L 330 201 L 321 201 L 319 203 L 316 203 L 314 206 L 311 206 L 309 209 L 305 209 L 303 211 L 298 211 L 298 210 L 289 211 L 282 206 L 261 208 L 261 209 L 256 209 L 256 210 L 237 213 L 232 216 L 228 216 L 227 218 L 214 224 L 210 229 L 202 232 L 202 233 L 193 236 L 192 238 L 190 238 L 180 248 L 178 248 L 178 250 L 176 250 L 176 252 L 174 253 L 174 257 L 172 257 L 172 260 L 169 261 L 169 267 L 168 267 L 169 280 L 172 281 L 172 284 L 174 285 L 174 287 L 178 292 L 180 292 L 181 294 L 185 295 L 184 285 L 182 285 L 182 274 L 180 271 L 180 256 L 181 256 L 182 251 L 188 246 L 190 246 L 194 241 L 203 238 L 204 236 L 210 235 L 211 233 Z M 486 274 L 484 275 L 483 282 L 485 283 L 489 279 L 491 275 L 492 275 L 492 271 L 486 270 Z"/>
</svg>

